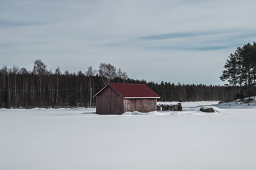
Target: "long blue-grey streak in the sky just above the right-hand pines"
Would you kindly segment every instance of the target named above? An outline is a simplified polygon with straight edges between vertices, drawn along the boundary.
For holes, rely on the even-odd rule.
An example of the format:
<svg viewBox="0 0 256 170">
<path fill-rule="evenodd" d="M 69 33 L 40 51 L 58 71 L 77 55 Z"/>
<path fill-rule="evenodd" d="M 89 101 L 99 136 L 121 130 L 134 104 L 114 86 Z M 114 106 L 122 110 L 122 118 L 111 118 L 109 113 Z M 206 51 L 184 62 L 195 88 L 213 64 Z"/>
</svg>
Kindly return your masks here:
<svg viewBox="0 0 256 170">
<path fill-rule="evenodd" d="M 254 30 L 221 30 L 201 32 L 177 32 L 147 35 L 128 40 L 108 42 L 110 47 L 138 48 L 141 50 L 169 50 L 169 51 L 215 51 L 235 49 L 244 41 L 256 38 Z"/>
</svg>

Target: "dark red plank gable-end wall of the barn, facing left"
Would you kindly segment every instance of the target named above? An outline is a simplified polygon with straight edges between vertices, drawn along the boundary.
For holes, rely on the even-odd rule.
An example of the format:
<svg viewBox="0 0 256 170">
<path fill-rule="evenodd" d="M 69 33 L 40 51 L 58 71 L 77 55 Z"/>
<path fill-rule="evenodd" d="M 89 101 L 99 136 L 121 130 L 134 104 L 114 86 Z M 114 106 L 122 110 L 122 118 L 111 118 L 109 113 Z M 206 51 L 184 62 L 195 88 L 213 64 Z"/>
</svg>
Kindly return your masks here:
<svg viewBox="0 0 256 170">
<path fill-rule="evenodd" d="M 97 114 L 122 114 L 124 113 L 124 99 L 110 86 L 107 86 L 96 97 Z"/>
</svg>

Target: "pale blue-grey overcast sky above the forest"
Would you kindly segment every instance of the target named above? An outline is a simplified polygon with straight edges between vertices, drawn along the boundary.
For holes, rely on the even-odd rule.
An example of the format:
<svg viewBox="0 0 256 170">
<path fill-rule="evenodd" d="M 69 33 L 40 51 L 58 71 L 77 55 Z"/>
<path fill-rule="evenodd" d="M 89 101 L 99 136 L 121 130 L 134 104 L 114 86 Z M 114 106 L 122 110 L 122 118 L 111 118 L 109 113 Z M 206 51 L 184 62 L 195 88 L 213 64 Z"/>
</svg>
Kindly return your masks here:
<svg viewBox="0 0 256 170">
<path fill-rule="evenodd" d="M 256 1 L 0 0 L 0 67 L 85 72 L 114 64 L 133 79 L 220 84 L 225 60 L 256 40 Z"/>
</svg>

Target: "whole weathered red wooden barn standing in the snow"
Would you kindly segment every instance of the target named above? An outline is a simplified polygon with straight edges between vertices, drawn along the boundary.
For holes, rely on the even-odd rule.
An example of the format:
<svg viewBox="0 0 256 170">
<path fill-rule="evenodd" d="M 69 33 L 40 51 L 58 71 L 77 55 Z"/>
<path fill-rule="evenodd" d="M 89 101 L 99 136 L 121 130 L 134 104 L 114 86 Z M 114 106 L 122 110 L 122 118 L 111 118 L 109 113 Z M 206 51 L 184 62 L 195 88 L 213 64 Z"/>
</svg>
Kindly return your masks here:
<svg viewBox="0 0 256 170">
<path fill-rule="evenodd" d="M 95 96 L 97 114 L 156 111 L 158 94 L 145 84 L 107 84 Z"/>
</svg>

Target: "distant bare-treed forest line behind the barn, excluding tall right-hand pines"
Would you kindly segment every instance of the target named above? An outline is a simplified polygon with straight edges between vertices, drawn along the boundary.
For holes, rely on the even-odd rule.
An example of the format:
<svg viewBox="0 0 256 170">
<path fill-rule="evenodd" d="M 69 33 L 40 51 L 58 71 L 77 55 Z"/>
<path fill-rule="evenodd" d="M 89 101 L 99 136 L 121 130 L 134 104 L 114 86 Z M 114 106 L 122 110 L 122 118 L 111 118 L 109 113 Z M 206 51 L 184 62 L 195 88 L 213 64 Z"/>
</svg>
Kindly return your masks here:
<svg viewBox="0 0 256 170">
<path fill-rule="evenodd" d="M 47 69 L 41 60 L 33 70 L 14 66 L 0 69 L 0 108 L 60 108 L 95 106 L 97 91 L 105 84 L 146 84 L 161 98 L 159 101 L 223 101 L 233 98 L 233 91 L 225 86 L 171 84 L 162 81 L 130 79 L 122 69 L 101 63 L 99 69 L 88 67 L 86 72 L 70 73 Z"/>
</svg>

